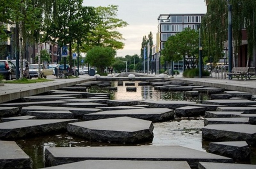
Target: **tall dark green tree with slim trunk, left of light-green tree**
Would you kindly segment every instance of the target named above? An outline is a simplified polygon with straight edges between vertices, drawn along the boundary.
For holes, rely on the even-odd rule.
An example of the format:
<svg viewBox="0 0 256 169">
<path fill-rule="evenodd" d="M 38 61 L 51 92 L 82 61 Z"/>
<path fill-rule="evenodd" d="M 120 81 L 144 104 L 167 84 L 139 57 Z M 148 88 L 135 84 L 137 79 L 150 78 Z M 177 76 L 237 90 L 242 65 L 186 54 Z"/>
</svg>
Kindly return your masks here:
<svg viewBox="0 0 256 169">
<path fill-rule="evenodd" d="M 94 18 L 93 7 L 82 6 L 82 0 L 59 0 L 57 22 L 51 22 L 46 26 L 44 40 L 58 42 L 61 47 L 68 45 L 69 64 L 72 67 L 72 45 L 77 43 L 79 48 L 89 31 L 93 29 Z"/>
</svg>

